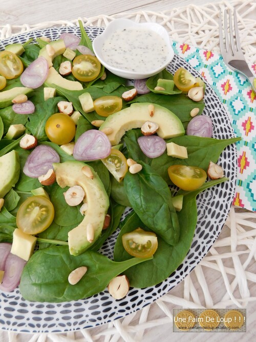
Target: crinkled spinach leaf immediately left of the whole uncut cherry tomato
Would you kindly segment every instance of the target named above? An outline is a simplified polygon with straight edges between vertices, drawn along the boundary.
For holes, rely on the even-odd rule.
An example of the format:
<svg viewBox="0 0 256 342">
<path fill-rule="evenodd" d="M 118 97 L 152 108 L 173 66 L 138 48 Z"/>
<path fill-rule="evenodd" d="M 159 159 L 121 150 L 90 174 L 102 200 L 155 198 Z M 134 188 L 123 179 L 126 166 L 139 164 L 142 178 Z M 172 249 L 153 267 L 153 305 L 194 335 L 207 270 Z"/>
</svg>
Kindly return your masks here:
<svg viewBox="0 0 256 342">
<path fill-rule="evenodd" d="M 35 112 L 29 114 L 29 122 L 26 127 L 40 142 L 48 140 L 45 132 L 47 119 L 52 114 L 59 112 L 57 104 L 62 100 L 65 99 L 62 97 L 49 98 L 48 100 L 35 105 Z"/>
</svg>

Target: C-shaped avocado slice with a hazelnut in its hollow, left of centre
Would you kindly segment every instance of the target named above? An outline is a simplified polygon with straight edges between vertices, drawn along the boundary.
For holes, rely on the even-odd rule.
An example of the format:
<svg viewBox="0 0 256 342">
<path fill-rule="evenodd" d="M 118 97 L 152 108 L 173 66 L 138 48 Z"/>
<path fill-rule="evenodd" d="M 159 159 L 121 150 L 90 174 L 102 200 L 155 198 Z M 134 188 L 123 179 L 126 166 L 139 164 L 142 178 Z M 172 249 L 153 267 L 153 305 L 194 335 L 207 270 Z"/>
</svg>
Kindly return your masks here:
<svg viewBox="0 0 256 342">
<path fill-rule="evenodd" d="M 82 222 L 73 228 L 68 234 L 69 251 L 72 255 L 79 255 L 86 251 L 101 234 L 105 215 L 109 209 L 109 196 L 97 175 L 93 173 L 93 179 L 83 173 L 82 169 L 86 164 L 69 160 L 64 163 L 53 163 L 53 169 L 56 175 L 56 181 L 61 188 L 73 187 L 79 185 L 86 194 L 88 209 Z M 87 240 L 87 227 L 91 224 L 94 229 L 93 243 Z"/>
</svg>

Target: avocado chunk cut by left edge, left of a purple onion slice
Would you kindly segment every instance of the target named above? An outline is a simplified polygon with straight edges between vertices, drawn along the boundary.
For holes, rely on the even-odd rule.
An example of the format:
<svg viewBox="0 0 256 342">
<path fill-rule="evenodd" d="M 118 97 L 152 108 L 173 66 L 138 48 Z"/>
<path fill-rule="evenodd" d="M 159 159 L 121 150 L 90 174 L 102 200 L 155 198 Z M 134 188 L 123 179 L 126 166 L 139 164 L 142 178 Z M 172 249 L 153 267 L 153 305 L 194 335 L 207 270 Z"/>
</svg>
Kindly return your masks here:
<svg viewBox="0 0 256 342">
<path fill-rule="evenodd" d="M 19 172 L 19 156 L 15 150 L 0 157 L 0 198 L 18 182 Z"/>
</svg>

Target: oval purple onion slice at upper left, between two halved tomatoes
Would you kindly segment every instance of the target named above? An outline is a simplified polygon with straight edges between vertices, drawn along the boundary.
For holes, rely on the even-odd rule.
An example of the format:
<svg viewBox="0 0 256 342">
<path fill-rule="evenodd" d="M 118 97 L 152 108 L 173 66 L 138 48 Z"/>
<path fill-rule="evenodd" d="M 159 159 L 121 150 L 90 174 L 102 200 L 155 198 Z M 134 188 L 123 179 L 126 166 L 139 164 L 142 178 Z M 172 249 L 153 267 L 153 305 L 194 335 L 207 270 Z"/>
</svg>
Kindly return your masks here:
<svg viewBox="0 0 256 342">
<path fill-rule="evenodd" d="M 44 84 L 49 73 L 48 62 L 45 57 L 38 57 L 20 75 L 20 82 L 24 87 L 39 88 Z"/>
</svg>

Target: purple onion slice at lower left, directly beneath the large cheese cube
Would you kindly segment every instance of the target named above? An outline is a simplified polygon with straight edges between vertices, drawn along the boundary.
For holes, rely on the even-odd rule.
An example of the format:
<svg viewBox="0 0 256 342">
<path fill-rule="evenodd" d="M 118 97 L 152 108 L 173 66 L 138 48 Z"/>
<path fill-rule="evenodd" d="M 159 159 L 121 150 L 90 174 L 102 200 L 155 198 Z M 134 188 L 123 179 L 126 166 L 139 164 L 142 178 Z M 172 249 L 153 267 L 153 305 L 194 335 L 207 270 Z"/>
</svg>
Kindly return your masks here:
<svg viewBox="0 0 256 342">
<path fill-rule="evenodd" d="M 9 253 L 5 261 L 5 274 L 0 290 L 11 292 L 19 285 L 22 271 L 27 261 L 17 255 Z"/>
</svg>

